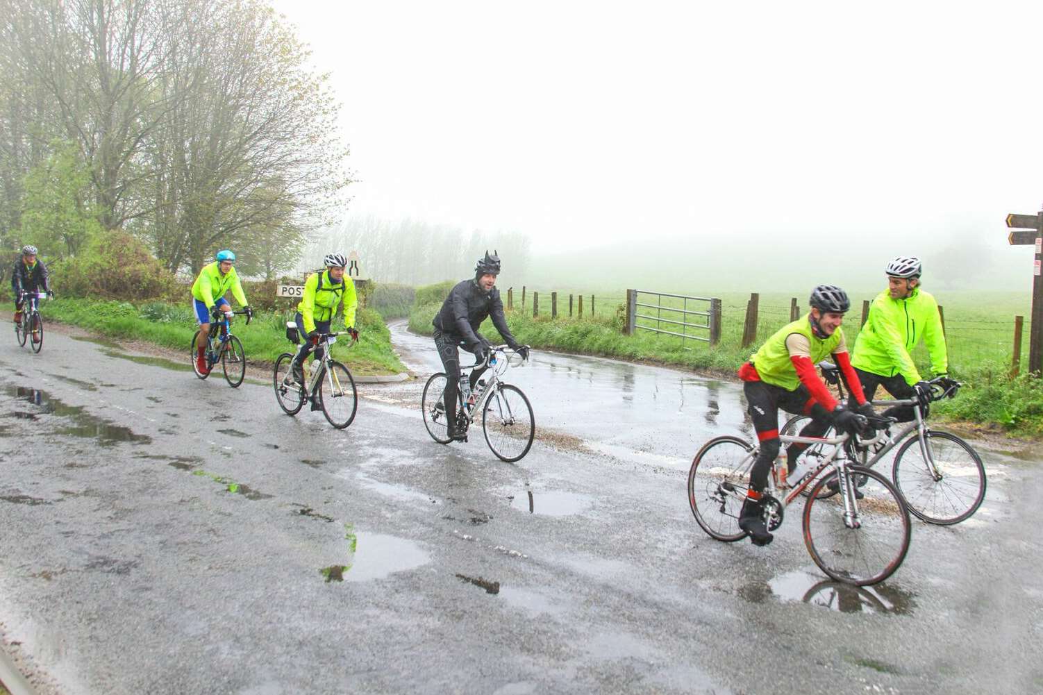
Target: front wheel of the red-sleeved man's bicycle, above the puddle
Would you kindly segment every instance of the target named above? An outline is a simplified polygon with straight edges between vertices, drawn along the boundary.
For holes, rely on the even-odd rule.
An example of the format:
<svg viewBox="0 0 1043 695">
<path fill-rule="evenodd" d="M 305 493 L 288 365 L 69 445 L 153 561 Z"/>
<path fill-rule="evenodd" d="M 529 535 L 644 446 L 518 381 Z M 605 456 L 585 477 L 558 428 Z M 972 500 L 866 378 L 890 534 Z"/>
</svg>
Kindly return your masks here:
<svg viewBox="0 0 1043 695">
<path fill-rule="evenodd" d="M 835 475 L 817 482 L 816 488 Z M 912 524 L 905 503 L 884 476 L 860 465 L 848 466 L 848 476 L 866 481 L 858 488 L 864 498 L 852 499 L 856 527 L 844 518 L 845 496 L 823 500 L 811 490 L 804 504 L 804 545 L 827 575 L 865 586 L 883 581 L 902 564 Z"/>
</svg>

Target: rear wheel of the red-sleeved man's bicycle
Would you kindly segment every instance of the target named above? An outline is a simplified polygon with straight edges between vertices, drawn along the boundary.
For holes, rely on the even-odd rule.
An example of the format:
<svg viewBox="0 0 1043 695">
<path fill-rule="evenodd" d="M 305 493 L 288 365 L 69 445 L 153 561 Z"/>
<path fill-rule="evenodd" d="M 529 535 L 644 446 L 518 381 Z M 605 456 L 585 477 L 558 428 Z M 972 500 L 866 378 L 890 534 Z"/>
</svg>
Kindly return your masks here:
<svg viewBox="0 0 1043 695">
<path fill-rule="evenodd" d="M 738 437 L 714 437 L 703 445 L 688 471 L 688 504 L 710 537 L 733 543 L 746 537 L 738 512 L 750 488 L 756 449 Z"/>
</svg>

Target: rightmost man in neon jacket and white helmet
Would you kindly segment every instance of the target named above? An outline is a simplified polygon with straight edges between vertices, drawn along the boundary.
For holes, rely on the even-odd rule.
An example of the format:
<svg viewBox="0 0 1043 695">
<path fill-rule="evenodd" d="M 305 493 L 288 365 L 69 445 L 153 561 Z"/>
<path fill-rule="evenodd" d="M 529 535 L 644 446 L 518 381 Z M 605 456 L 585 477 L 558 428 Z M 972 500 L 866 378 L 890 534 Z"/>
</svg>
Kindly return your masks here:
<svg viewBox="0 0 1043 695">
<path fill-rule="evenodd" d="M 923 380 L 911 353 L 923 340 L 937 377 L 948 372 L 942 317 L 935 297 L 920 287 L 923 264 L 914 256 L 899 256 L 888 263 L 888 289 L 876 295 L 866 325 L 855 338 L 851 365 L 870 401 L 877 386 L 897 399 L 929 400 L 930 385 Z M 893 407 L 883 415 L 907 422 L 916 417 L 911 406 Z"/>
</svg>

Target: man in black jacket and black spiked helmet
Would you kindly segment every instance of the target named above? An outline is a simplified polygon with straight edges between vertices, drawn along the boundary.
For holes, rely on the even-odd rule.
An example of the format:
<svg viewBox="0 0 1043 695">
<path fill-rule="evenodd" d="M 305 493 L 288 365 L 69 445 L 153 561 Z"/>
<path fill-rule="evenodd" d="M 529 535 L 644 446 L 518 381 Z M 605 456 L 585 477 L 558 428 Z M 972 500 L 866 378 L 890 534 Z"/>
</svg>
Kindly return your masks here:
<svg viewBox="0 0 1043 695">
<path fill-rule="evenodd" d="M 507 345 L 523 358 L 529 357 L 529 348 L 519 345 L 507 328 L 504 303 L 500 299 L 500 290 L 495 288 L 498 274 L 500 274 L 500 256 L 495 251 L 489 256 L 489 251 L 486 250 L 485 258 L 479 259 L 478 265 L 475 266 L 475 278 L 458 283 L 450 291 L 441 310 L 432 321 L 435 326 L 434 337 L 438 357 L 442 360 L 447 377 L 442 398 L 448 415 L 446 427 L 451 440 L 463 438 L 463 434 L 457 430 L 456 422 L 457 390 L 460 381 L 460 357 L 457 348 L 463 346 L 474 354 L 477 362 L 485 362 L 489 341 L 482 337 L 478 329 L 482 321 L 491 316 L 492 325 L 496 327 Z M 484 368 L 471 370 L 471 390 L 484 370 Z"/>
</svg>

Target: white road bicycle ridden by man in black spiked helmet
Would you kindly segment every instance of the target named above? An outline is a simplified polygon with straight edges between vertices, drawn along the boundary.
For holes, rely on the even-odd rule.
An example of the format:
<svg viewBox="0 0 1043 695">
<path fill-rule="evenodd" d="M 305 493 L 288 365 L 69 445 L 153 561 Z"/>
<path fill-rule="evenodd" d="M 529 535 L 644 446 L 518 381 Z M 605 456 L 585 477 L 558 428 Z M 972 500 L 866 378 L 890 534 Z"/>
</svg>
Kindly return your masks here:
<svg viewBox="0 0 1043 695">
<path fill-rule="evenodd" d="M 489 350 L 484 362 L 476 362 L 461 367 L 460 388 L 457 389 L 457 428 L 467 440 L 467 428 L 482 414 L 482 432 L 489 449 L 503 461 L 509 463 L 520 460 L 529 453 L 536 433 L 536 423 L 529 399 L 517 386 L 501 381 L 507 367 L 518 365 L 524 358 L 512 362 L 507 355 L 507 345 L 495 345 Z M 517 355 L 515 352 L 514 355 Z M 470 373 L 487 367 L 486 372 L 470 391 Z M 428 379 L 423 386 L 420 409 L 423 411 L 423 426 L 428 434 L 438 444 L 448 444 L 445 402 L 442 392 L 448 381 L 444 372 Z"/>
</svg>

